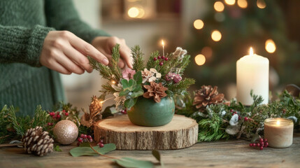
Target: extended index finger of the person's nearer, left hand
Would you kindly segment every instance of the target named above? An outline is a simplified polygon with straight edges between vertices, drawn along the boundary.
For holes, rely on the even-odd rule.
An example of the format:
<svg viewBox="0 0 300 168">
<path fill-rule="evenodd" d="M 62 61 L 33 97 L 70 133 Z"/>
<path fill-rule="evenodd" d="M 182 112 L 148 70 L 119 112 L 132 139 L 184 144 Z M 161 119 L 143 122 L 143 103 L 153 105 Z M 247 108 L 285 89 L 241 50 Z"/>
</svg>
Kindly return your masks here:
<svg viewBox="0 0 300 168">
<path fill-rule="evenodd" d="M 101 62 L 102 64 L 108 65 L 108 59 L 103 55 L 103 53 L 99 52 L 96 48 L 93 47 L 93 45 L 90 45 L 89 43 L 83 41 L 83 39 L 78 38 L 74 34 L 70 36 L 71 40 L 70 43 L 73 46 L 73 48 L 76 48 L 76 50 L 79 50 L 83 55 L 89 55 L 97 62 Z"/>
</svg>

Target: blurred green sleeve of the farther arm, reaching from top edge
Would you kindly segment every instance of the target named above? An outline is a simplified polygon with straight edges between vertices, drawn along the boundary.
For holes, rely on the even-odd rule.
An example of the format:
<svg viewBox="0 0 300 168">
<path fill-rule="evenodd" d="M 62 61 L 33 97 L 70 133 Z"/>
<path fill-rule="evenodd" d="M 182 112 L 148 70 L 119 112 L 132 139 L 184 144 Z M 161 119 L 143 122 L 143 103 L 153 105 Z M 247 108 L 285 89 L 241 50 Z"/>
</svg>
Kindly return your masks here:
<svg viewBox="0 0 300 168">
<path fill-rule="evenodd" d="M 88 43 L 96 36 L 109 36 L 105 31 L 92 29 L 80 20 L 71 0 L 45 0 L 45 15 L 49 27 L 71 31 Z"/>
</svg>

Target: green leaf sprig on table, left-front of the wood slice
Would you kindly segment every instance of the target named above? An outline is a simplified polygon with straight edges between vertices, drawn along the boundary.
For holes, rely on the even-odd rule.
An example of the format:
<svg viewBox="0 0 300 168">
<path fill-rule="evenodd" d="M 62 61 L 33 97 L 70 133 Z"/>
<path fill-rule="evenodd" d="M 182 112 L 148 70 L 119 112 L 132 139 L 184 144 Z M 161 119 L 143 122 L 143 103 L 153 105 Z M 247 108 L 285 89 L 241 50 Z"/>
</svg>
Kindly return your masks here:
<svg viewBox="0 0 300 168">
<path fill-rule="evenodd" d="M 105 144 L 103 148 L 99 148 L 99 146 L 93 147 L 95 151 L 99 152 L 100 154 L 104 155 L 110 151 L 115 150 L 115 144 Z M 98 153 L 94 152 L 90 147 L 76 147 L 71 149 L 70 154 L 73 157 L 83 156 L 83 155 L 99 155 Z"/>
</svg>

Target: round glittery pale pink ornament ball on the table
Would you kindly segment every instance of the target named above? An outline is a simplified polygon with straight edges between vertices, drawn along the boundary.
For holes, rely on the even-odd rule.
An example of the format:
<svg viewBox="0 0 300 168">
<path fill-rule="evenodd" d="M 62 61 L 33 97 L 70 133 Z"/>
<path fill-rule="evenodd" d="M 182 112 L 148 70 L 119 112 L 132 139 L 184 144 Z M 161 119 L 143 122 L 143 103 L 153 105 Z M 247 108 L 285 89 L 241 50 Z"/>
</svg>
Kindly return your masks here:
<svg viewBox="0 0 300 168">
<path fill-rule="evenodd" d="M 71 120 L 61 120 L 55 125 L 53 134 L 60 144 L 69 145 L 78 137 L 78 127 Z"/>
</svg>

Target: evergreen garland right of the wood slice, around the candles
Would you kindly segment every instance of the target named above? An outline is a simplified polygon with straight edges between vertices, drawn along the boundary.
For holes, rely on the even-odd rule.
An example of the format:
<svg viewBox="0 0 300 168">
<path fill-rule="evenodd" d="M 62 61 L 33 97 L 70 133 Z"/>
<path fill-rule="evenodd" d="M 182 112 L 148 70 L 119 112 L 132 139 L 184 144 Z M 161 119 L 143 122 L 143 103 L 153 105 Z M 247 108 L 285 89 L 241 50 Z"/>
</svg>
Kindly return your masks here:
<svg viewBox="0 0 300 168">
<path fill-rule="evenodd" d="M 236 99 L 230 104 L 210 104 L 204 111 L 198 111 L 190 95 L 176 98 L 176 112 L 194 118 L 199 123 L 198 141 L 217 141 L 219 139 L 245 137 L 255 141 L 264 134 L 266 118 L 289 118 L 299 127 L 300 97 L 293 97 L 287 90 L 269 104 L 261 104 L 263 99 L 250 93 L 254 102 L 243 106 Z M 261 104 L 261 105 L 260 105 Z"/>
</svg>

